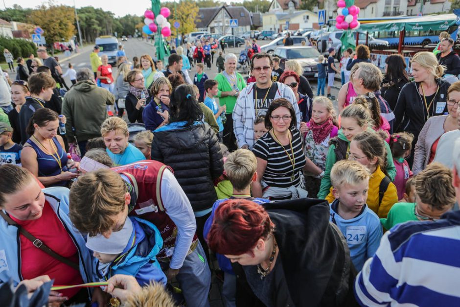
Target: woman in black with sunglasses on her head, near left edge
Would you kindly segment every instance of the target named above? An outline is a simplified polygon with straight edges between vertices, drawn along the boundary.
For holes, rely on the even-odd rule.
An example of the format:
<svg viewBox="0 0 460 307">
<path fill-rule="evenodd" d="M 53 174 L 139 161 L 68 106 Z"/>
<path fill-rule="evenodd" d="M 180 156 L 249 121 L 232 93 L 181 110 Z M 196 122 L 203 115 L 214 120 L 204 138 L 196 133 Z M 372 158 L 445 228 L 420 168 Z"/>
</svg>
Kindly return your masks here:
<svg viewBox="0 0 460 307">
<path fill-rule="evenodd" d="M 11 100 L 15 107 L 8 112 L 8 119 L 10 120 L 11 127 L 13 128 L 13 137 L 11 138 L 15 143 L 21 143 L 21 126 L 19 124 L 19 111 L 25 103 L 25 97 L 30 96 L 27 82 L 14 81 L 11 85 Z"/>
</svg>

